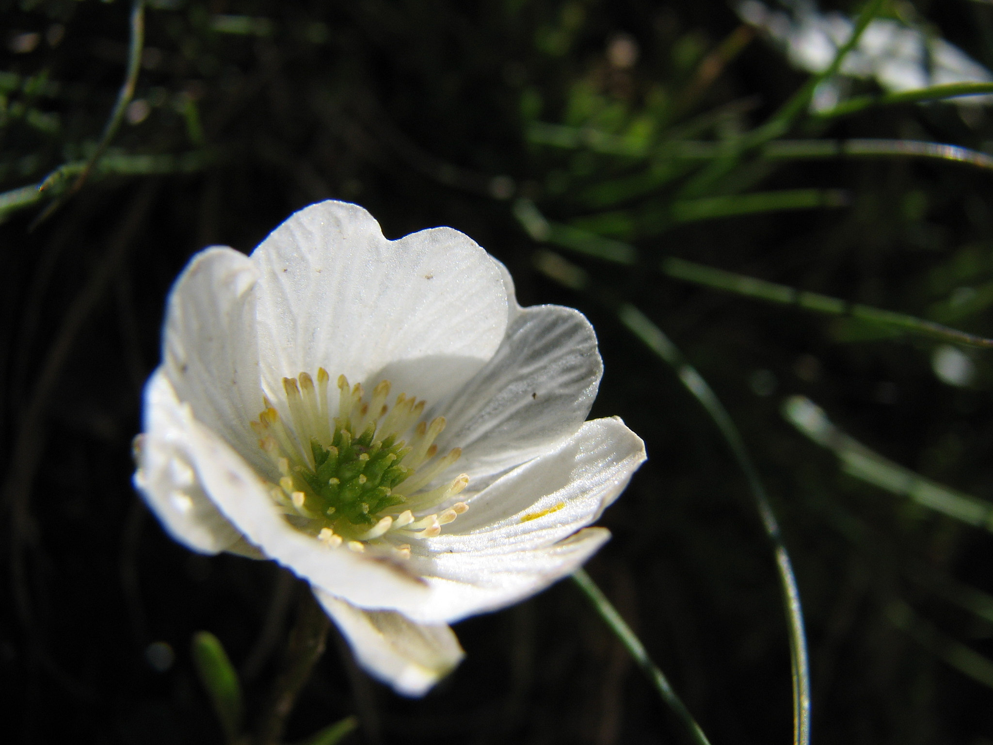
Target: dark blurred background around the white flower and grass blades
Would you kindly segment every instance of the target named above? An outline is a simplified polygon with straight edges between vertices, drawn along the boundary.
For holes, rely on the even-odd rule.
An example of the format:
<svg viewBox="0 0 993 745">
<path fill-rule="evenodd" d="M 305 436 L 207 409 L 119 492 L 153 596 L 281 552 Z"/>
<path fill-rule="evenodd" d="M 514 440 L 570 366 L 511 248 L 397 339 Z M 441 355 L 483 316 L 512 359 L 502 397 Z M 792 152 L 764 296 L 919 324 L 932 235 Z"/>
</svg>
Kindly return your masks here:
<svg viewBox="0 0 993 745">
<path fill-rule="evenodd" d="M 511 206 L 524 196 L 550 218 L 579 220 L 602 212 L 591 187 L 642 167 L 529 142 L 532 120 L 621 132 L 644 117 L 665 132 L 743 101 L 723 130 L 694 135 L 727 139 L 762 123 L 805 76 L 756 38 L 697 85 L 701 64 L 740 25 L 716 0 L 151 5 L 135 92 L 148 115 L 124 123 L 111 153 L 188 153 L 190 172 L 94 174 L 41 224 L 50 203 L 0 224 L 0 739 L 217 742 L 190 655 L 202 629 L 246 672 L 249 713 L 257 705 L 299 588 L 272 564 L 194 555 L 167 537 L 130 485 L 130 442 L 159 359 L 164 298 L 188 258 L 212 243 L 250 251 L 294 210 L 336 198 L 369 210 L 387 237 L 439 224 L 463 230 L 506 263 L 523 305 L 588 315 L 606 367 L 591 416 L 621 415 L 649 455 L 604 517 L 614 539 L 588 569 L 714 745 L 788 742 L 779 585 L 742 474 L 699 403 L 609 304 L 535 270 L 538 246 Z M 129 5 L 0 8 L 0 70 L 52 83 L 5 93 L 0 188 L 9 190 L 84 157 L 99 138 L 123 76 Z M 913 8 L 993 66 L 993 7 Z M 248 34 L 222 33 L 218 14 L 265 20 Z M 14 54 L 15 37 L 32 32 L 32 51 Z M 618 34 L 637 44 L 634 67 L 607 58 Z M 577 86 L 601 108 L 578 111 Z M 983 149 L 993 123 L 982 108 L 905 105 L 793 134 Z M 989 172 L 882 158 L 738 176 L 714 193 L 823 187 L 846 190 L 848 205 L 614 236 L 646 262 L 681 256 L 921 317 L 955 288 L 993 280 Z M 679 183 L 611 210 L 664 209 Z M 932 340 L 719 294 L 646 265 L 563 255 L 591 272 L 598 291 L 654 320 L 741 428 L 804 602 L 814 742 L 993 742 L 993 662 L 986 682 L 981 670 L 948 664 L 955 645 L 993 656 L 993 623 L 948 600 L 993 592 L 993 536 L 844 475 L 780 415 L 784 396 L 808 395 L 886 457 L 988 498 L 990 353 L 968 351 L 975 380 L 954 388 L 931 372 Z M 949 323 L 993 334 L 983 304 Z M 757 371 L 771 373 L 765 387 L 753 384 Z M 900 604 L 913 609 L 910 622 L 895 615 Z M 468 657 L 423 700 L 370 681 L 331 641 L 288 739 L 355 713 L 362 725 L 351 742 L 679 741 L 673 717 L 569 582 L 456 631 Z"/>
</svg>

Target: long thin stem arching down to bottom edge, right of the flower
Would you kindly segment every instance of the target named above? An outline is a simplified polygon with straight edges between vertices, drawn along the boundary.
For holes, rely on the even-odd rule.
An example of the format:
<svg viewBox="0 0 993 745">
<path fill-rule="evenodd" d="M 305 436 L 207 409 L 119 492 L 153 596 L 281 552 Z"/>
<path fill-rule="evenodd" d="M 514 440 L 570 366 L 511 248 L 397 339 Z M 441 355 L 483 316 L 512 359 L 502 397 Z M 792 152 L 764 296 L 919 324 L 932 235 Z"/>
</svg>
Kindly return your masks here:
<svg viewBox="0 0 993 745">
<path fill-rule="evenodd" d="M 710 414 L 724 436 L 738 466 L 745 474 L 766 534 L 773 544 L 776 565 L 780 576 L 783 610 L 789 627 L 789 658 L 793 679 L 793 743 L 808 745 L 810 742 L 810 667 L 807 658 L 806 636 L 803 631 L 803 611 L 799 589 L 793 574 L 789 554 L 786 552 L 769 495 L 759 478 L 759 472 L 745 447 L 738 428 L 727 409 L 700 373 L 686 362 L 682 353 L 651 320 L 634 305 L 626 303 L 618 310 L 621 322 L 644 343 L 648 349 L 668 363 L 678 374 L 683 385 L 696 397 Z"/>
</svg>

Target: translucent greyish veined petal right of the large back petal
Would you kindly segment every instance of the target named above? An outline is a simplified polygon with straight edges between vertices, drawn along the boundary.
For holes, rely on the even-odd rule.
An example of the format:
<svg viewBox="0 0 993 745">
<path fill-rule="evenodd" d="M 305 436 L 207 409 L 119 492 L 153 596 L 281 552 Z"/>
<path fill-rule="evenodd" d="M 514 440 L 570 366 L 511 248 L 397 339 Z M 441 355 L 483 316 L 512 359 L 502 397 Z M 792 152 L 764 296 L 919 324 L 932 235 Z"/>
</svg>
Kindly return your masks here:
<svg viewBox="0 0 993 745">
<path fill-rule="evenodd" d="M 519 310 L 494 358 L 444 404 L 443 452 L 461 447 L 458 472 L 474 490 L 576 432 L 603 374 L 597 337 L 582 313 Z"/>
</svg>

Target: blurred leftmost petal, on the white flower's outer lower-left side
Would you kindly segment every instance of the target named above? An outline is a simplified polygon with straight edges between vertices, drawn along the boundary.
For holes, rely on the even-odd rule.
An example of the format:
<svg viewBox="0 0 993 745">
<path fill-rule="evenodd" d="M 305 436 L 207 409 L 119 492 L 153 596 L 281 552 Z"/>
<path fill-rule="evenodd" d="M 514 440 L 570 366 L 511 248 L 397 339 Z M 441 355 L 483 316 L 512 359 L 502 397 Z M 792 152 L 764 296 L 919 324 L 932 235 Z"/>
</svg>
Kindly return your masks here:
<svg viewBox="0 0 993 745">
<path fill-rule="evenodd" d="M 176 540 L 201 553 L 219 553 L 241 538 L 201 488 L 184 437 L 180 403 L 162 370 L 145 386 L 145 434 L 134 484 Z"/>
</svg>

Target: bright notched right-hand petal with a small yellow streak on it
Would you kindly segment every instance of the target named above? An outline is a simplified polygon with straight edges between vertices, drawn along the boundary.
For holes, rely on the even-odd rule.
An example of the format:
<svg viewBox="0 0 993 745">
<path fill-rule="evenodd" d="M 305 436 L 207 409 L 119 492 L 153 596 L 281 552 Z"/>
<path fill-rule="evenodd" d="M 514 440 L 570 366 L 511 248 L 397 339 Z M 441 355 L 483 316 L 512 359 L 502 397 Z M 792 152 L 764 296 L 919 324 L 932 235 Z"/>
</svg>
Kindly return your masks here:
<svg viewBox="0 0 993 745">
<path fill-rule="evenodd" d="M 644 444 L 624 422 L 596 419 L 497 479 L 441 535 L 413 545 L 410 567 L 428 579 L 431 596 L 404 613 L 424 623 L 452 622 L 508 605 L 573 571 L 608 537 L 602 528 L 580 528 L 617 499 L 644 458 Z"/>
</svg>

